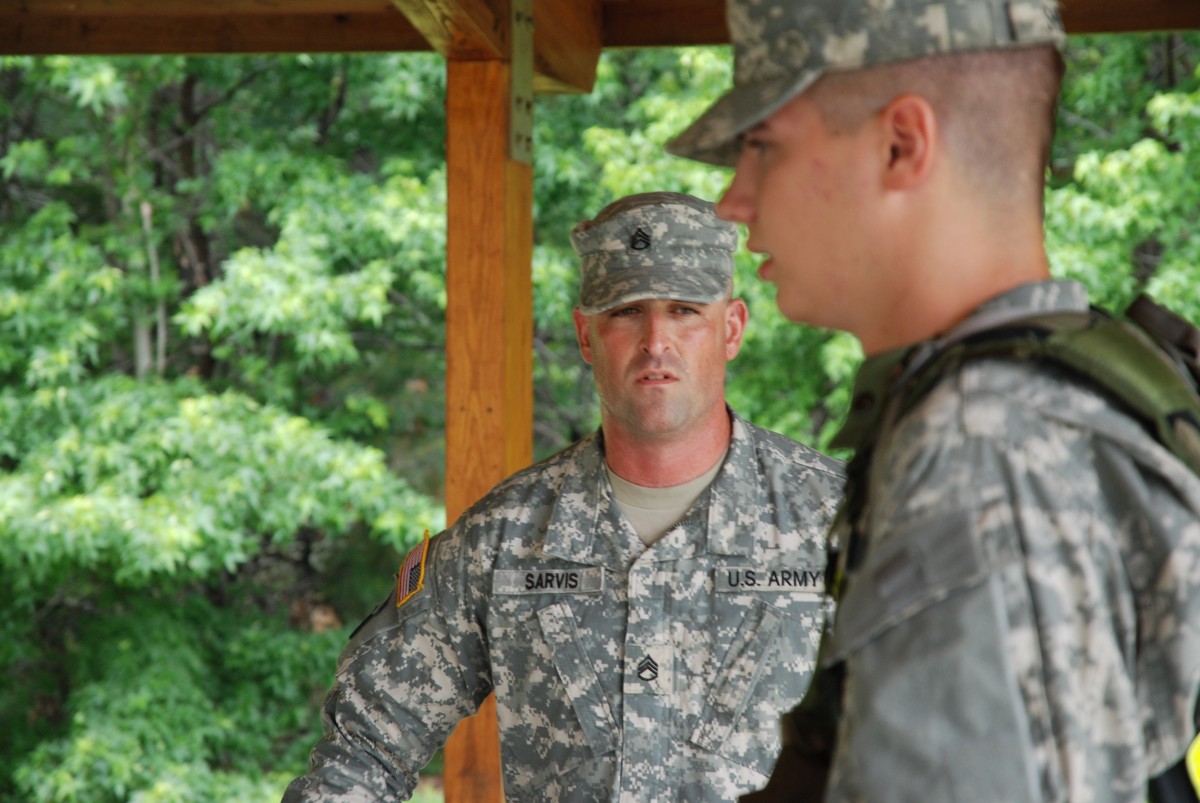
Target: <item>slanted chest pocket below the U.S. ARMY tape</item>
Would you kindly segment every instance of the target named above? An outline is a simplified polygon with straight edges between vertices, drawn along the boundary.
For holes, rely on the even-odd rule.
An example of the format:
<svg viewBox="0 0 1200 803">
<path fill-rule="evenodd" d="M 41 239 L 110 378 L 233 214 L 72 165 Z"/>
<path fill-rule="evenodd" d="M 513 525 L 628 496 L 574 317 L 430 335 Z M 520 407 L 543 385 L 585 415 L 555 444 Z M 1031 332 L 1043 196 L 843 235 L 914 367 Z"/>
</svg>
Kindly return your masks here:
<svg viewBox="0 0 1200 803">
<path fill-rule="evenodd" d="M 690 737 L 694 744 L 763 774 L 770 771 L 779 749 L 778 714 L 781 712 L 773 709 L 764 721 L 757 721 L 760 712 L 752 700 L 772 660 L 784 621 L 785 616 L 766 603 L 756 601 L 746 611 Z"/>
</svg>

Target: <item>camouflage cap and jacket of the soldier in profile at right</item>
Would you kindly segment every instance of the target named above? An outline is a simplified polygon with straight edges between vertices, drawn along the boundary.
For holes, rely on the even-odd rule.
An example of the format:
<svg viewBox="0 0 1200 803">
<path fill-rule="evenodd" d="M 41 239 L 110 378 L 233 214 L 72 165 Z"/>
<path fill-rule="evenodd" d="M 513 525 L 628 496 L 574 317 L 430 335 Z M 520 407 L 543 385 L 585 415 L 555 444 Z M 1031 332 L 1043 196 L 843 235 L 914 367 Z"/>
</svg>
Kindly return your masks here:
<svg viewBox="0 0 1200 803">
<path fill-rule="evenodd" d="M 826 72 L 1063 41 L 1054 0 L 728 0 L 727 14 L 734 86 L 667 146 L 716 164 Z M 979 314 L 1003 307 L 1086 298 L 1046 282 Z M 1194 733 L 1200 481 L 1091 384 L 1030 361 L 971 360 L 871 437 L 858 419 L 888 409 L 923 346 L 860 368 L 839 445 L 862 455 L 866 508 L 852 544 L 833 533 L 846 563 L 823 671 L 748 799 L 828 784 L 836 802 L 1144 801 Z"/>
</svg>

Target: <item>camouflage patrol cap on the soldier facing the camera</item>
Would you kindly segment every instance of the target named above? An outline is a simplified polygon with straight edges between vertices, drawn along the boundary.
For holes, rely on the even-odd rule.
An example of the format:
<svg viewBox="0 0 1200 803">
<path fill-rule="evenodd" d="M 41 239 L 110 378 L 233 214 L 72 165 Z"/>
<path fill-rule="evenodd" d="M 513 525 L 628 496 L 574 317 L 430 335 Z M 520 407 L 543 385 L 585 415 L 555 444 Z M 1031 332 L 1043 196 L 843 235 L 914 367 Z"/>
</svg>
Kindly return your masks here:
<svg viewBox="0 0 1200 803">
<path fill-rule="evenodd" d="M 580 311 L 642 299 L 712 304 L 728 298 L 737 226 L 679 192 L 628 196 L 571 232 L 582 260 Z"/>
</svg>

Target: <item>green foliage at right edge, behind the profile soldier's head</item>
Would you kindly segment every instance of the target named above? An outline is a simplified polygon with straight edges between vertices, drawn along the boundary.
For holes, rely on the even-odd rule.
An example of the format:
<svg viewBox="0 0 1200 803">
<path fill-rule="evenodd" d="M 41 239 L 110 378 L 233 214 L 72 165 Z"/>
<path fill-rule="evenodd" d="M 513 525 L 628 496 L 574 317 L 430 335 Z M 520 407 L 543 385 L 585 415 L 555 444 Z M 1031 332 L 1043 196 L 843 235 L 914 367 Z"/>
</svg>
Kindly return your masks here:
<svg viewBox="0 0 1200 803">
<path fill-rule="evenodd" d="M 1068 64 L 1046 203 L 1054 270 L 1112 308 L 1148 290 L 1200 320 L 1200 38 L 1081 37 Z"/>
</svg>

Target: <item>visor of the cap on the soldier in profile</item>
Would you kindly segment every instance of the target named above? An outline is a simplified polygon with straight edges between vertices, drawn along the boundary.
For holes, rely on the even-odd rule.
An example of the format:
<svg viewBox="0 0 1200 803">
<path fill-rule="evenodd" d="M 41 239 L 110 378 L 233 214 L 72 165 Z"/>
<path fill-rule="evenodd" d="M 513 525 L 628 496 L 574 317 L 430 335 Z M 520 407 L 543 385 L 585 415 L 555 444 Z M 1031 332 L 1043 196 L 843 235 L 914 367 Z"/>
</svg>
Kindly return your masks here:
<svg viewBox="0 0 1200 803">
<path fill-rule="evenodd" d="M 666 145 L 673 156 L 721 167 L 738 161 L 739 137 L 781 109 L 821 77 L 822 70 L 734 86 Z"/>
</svg>

